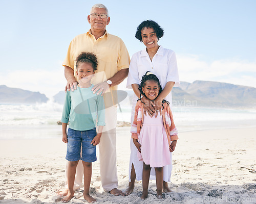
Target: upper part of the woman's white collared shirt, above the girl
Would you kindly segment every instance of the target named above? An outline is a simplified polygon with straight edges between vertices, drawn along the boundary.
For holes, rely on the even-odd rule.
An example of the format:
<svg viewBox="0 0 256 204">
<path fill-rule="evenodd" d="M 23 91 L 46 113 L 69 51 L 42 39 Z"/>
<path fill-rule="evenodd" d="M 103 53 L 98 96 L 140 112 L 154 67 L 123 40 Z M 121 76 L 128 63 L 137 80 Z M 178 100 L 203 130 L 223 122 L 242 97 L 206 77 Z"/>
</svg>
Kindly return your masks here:
<svg viewBox="0 0 256 204">
<path fill-rule="evenodd" d="M 167 82 L 175 82 L 174 87 L 180 86 L 176 54 L 171 49 L 163 48 L 160 45 L 152 61 L 146 52 L 146 48 L 135 53 L 129 66 L 126 87 L 131 89 L 132 84 L 139 85 L 146 71 L 151 71 L 157 76 L 162 89 L 164 89 Z M 138 97 L 135 95 L 133 106 L 137 101 L 135 98 Z M 165 100 L 169 101 L 170 107 L 172 107 L 172 92 L 165 97 Z"/>
</svg>

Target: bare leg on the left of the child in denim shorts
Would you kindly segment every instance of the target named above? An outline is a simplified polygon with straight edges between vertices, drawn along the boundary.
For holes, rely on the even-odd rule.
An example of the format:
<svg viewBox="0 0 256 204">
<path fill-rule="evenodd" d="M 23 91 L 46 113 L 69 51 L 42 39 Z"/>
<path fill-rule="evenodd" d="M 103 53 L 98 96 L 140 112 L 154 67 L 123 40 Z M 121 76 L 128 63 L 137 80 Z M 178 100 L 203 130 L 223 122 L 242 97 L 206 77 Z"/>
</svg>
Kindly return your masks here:
<svg viewBox="0 0 256 204">
<path fill-rule="evenodd" d="M 61 199 L 62 202 L 69 202 L 71 198 L 74 196 L 74 182 L 76 175 L 76 166 L 78 161 L 70 162 L 68 166 L 68 194 Z"/>
</svg>

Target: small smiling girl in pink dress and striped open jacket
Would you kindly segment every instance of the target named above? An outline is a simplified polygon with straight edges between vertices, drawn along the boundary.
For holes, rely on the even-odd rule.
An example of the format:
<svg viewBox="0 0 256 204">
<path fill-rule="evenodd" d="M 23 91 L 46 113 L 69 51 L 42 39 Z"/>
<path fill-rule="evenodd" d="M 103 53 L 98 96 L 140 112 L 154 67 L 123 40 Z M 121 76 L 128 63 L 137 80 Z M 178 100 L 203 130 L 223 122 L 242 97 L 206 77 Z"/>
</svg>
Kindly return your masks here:
<svg viewBox="0 0 256 204">
<path fill-rule="evenodd" d="M 141 97 L 151 101 L 161 93 L 162 88 L 155 74 L 147 71 L 139 85 Z M 154 103 L 153 103 L 154 104 Z M 169 151 L 175 149 L 178 131 L 173 121 L 173 115 L 166 100 L 162 101 L 162 112 L 153 117 L 144 114 L 142 101 L 138 100 L 135 107 L 134 122 L 131 133 L 135 146 L 138 149 L 138 158 L 143 161 L 142 199 L 147 197 L 150 171 L 156 171 L 157 197 L 162 198 L 163 166 L 170 164 Z M 171 142 L 173 141 L 173 142 Z"/>
</svg>

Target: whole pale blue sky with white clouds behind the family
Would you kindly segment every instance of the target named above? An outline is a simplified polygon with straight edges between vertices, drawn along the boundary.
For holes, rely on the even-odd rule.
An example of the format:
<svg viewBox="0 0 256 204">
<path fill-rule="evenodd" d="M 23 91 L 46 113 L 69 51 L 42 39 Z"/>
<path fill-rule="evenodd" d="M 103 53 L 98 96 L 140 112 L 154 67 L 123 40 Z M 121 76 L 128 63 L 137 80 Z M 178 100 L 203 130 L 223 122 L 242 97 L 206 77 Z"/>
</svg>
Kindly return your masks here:
<svg viewBox="0 0 256 204">
<path fill-rule="evenodd" d="M 0 1 L 0 85 L 52 96 L 65 87 L 61 63 L 70 41 L 90 29 L 91 7 L 102 3 L 130 56 L 144 48 L 138 24 L 157 21 L 159 44 L 177 54 L 180 80 L 256 87 L 256 1 Z M 121 84 L 123 89 L 125 84 Z"/>
</svg>

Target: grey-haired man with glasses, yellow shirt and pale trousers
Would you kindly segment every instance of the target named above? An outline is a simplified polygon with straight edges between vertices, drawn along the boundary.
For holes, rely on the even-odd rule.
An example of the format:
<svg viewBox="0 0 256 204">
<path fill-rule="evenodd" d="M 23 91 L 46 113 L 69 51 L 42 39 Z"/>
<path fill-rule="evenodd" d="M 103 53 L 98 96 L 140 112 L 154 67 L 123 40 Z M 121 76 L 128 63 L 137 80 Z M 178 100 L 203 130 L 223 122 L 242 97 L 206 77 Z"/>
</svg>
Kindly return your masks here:
<svg viewBox="0 0 256 204">
<path fill-rule="evenodd" d="M 92 7 L 88 22 L 91 29 L 76 36 L 70 43 L 68 54 L 63 62 L 66 90 L 76 89 L 75 59 L 81 52 L 93 52 L 98 58 L 98 70 L 93 79 L 93 93 L 103 94 L 105 101 L 105 123 L 101 141 L 99 143 L 100 176 L 102 187 L 113 195 L 120 195 L 118 190 L 116 167 L 116 114 L 117 114 L 117 86 L 129 72 L 130 57 L 123 41 L 106 32 L 106 25 L 110 23 L 108 9 L 102 4 Z M 81 162 L 79 162 L 81 163 Z M 67 171 L 67 169 L 66 169 Z M 66 175 L 67 180 L 67 175 Z M 77 168 L 74 189 L 79 189 L 82 181 L 82 165 Z M 67 181 L 66 181 L 67 183 Z M 66 187 L 67 188 L 67 187 Z M 67 195 L 68 189 L 59 193 Z"/>
</svg>

